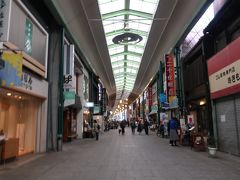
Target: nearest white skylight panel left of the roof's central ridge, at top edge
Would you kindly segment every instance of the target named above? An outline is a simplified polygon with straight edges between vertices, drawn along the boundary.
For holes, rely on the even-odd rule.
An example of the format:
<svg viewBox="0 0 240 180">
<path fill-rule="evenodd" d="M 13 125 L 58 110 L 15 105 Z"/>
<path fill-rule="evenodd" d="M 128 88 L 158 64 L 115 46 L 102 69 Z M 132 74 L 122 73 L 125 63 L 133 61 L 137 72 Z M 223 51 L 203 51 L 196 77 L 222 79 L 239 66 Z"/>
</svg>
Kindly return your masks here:
<svg viewBox="0 0 240 180">
<path fill-rule="evenodd" d="M 119 11 L 124 9 L 124 3 L 122 0 L 115 0 L 115 1 L 103 1 L 99 0 L 100 11 L 101 14 L 107 14 L 114 11 Z"/>
</svg>

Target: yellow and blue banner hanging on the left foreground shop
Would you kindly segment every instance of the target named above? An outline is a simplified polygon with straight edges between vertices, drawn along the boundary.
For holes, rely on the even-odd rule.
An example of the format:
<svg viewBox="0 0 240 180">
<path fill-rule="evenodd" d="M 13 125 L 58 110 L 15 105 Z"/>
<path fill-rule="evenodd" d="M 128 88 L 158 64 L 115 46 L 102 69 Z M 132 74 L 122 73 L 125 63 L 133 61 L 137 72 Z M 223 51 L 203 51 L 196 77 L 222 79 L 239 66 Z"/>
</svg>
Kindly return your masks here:
<svg viewBox="0 0 240 180">
<path fill-rule="evenodd" d="M 6 53 L 2 54 L 1 60 L 4 61 L 4 68 L 0 70 L 1 86 L 18 86 L 22 79 L 22 54 Z"/>
</svg>

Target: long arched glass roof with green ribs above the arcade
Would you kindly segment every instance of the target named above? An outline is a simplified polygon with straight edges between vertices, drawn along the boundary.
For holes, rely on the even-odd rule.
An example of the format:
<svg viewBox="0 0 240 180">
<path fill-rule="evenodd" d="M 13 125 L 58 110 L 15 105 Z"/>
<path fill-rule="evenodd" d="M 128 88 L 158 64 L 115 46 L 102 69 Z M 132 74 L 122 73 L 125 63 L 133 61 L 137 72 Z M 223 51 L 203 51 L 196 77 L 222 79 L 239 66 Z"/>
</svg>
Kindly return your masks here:
<svg viewBox="0 0 240 180">
<path fill-rule="evenodd" d="M 111 58 L 117 100 L 131 93 L 159 0 L 98 0 Z M 114 44 L 126 32 L 142 37 L 136 44 Z"/>
</svg>

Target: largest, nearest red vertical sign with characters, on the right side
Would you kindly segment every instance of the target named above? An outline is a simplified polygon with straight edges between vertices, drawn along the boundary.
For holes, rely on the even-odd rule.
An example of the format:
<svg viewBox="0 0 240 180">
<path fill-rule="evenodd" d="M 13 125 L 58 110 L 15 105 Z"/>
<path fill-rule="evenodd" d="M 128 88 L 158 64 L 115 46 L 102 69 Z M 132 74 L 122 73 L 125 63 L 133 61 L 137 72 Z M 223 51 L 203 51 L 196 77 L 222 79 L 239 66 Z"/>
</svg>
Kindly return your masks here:
<svg viewBox="0 0 240 180">
<path fill-rule="evenodd" d="M 167 83 L 167 96 L 175 96 L 175 73 L 174 73 L 174 61 L 173 56 L 170 54 L 165 55 L 165 64 L 166 64 L 166 83 Z"/>
</svg>

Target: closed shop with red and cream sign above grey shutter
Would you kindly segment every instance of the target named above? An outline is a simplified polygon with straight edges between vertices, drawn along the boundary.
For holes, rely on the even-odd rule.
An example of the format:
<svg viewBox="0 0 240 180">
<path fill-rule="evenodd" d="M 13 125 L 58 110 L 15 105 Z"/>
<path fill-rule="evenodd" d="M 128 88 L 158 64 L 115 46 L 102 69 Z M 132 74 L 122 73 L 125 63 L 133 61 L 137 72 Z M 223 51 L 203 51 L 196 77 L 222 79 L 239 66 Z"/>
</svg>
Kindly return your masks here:
<svg viewBox="0 0 240 180">
<path fill-rule="evenodd" d="M 240 155 L 240 37 L 208 60 L 219 149 Z"/>
</svg>

